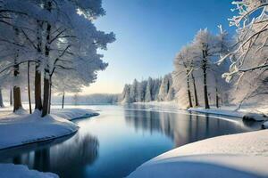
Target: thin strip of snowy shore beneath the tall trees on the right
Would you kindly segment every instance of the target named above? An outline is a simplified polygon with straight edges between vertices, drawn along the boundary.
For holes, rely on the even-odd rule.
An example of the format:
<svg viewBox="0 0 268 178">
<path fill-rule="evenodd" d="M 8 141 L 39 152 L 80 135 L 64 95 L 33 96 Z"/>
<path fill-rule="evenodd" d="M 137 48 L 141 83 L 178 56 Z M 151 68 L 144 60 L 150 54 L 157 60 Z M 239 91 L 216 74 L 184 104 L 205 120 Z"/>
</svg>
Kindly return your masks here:
<svg viewBox="0 0 268 178">
<path fill-rule="evenodd" d="M 200 113 L 207 114 L 216 114 L 228 117 L 240 117 L 246 120 L 255 120 L 255 121 L 264 121 L 267 120 L 267 117 L 262 113 L 252 113 L 244 111 L 236 111 L 234 108 L 226 108 L 226 109 L 203 109 L 203 108 L 190 108 L 188 111 L 195 111 Z"/>
</svg>

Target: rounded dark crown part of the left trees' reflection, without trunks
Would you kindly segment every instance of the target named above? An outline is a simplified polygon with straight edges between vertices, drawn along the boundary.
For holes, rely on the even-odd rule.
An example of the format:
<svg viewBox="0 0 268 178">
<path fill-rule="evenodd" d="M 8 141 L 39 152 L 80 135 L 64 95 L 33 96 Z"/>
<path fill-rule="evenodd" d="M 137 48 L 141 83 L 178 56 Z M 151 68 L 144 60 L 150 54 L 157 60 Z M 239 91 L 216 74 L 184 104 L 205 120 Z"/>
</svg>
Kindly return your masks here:
<svg viewBox="0 0 268 178">
<path fill-rule="evenodd" d="M 99 147 L 96 137 L 90 134 L 77 135 L 73 141 L 52 148 L 50 171 L 62 177 L 83 177 L 85 167 L 94 163 Z"/>
</svg>

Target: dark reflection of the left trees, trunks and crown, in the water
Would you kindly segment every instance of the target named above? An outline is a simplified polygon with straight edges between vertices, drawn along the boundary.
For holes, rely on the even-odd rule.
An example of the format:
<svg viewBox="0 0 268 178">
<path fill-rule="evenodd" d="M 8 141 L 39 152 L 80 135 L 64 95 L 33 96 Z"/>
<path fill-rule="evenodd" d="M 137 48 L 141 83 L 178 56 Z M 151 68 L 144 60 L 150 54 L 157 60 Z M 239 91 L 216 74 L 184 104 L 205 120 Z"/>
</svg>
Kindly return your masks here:
<svg viewBox="0 0 268 178">
<path fill-rule="evenodd" d="M 83 177 L 85 166 L 90 166 L 96 160 L 98 147 L 96 137 L 76 134 L 61 144 L 14 157 L 13 163 L 28 165 L 42 172 L 53 172 L 64 178 Z"/>
</svg>

